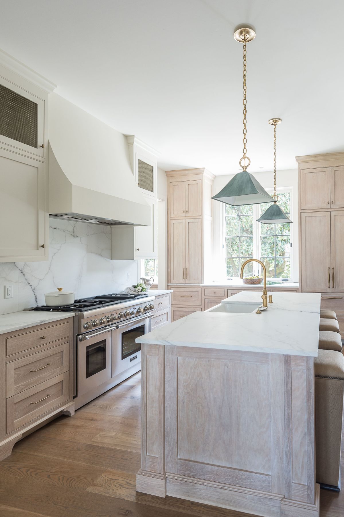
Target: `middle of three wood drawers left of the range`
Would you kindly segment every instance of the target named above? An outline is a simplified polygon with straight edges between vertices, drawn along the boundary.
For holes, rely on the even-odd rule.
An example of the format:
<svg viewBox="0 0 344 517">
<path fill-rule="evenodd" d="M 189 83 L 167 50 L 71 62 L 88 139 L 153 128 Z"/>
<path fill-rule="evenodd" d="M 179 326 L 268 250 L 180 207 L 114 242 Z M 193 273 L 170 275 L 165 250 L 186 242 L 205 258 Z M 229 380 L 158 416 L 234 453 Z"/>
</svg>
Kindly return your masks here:
<svg viewBox="0 0 344 517">
<path fill-rule="evenodd" d="M 69 370 L 69 343 L 6 364 L 6 398 Z"/>
</svg>

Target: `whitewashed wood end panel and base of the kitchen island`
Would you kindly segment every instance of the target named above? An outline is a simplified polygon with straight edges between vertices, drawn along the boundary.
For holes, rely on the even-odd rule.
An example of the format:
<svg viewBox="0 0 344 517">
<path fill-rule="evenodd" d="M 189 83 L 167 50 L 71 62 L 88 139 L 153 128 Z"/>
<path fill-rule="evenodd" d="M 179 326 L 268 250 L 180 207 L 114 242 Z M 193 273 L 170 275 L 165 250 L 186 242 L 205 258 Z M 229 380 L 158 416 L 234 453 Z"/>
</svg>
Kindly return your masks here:
<svg viewBox="0 0 344 517">
<path fill-rule="evenodd" d="M 317 517 L 314 357 L 142 344 L 136 490 Z"/>
</svg>

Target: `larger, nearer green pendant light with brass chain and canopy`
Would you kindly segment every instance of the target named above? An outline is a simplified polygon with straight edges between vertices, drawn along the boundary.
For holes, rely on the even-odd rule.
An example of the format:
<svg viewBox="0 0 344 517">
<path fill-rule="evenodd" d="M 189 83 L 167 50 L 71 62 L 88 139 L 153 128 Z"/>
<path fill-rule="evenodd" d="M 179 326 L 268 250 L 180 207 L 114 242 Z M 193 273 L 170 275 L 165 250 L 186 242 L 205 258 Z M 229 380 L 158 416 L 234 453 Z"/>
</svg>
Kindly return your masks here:
<svg viewBox="0 0 344 517">
<path fill-rule="evenodd" d="M 267 203 L 271 201 L 271 196 L 258 183 L 256 178 L 247 172 L 251 160 L 246 156 L 247 144 L 247 101 L 246 101 L 246 43 L 252 41 L 256 33 L 252 28 L 238 28 L 234 33 L 234 39 L 243 43 L 243 156 L 239 161 L 242 172 L 239 172 L 227 183 L 223 189 L 212 196 L 211 199 L 221 201 L 227 205 L 256 205 L 257 203 Z"/>
</svg>

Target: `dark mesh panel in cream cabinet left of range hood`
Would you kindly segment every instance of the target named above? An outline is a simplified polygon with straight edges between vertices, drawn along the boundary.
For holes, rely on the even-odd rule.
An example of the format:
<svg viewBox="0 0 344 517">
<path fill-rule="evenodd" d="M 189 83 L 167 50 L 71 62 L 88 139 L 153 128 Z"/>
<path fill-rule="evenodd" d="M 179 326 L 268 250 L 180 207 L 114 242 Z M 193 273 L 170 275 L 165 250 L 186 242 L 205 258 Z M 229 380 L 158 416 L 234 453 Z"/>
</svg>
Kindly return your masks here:
<svg viewBox="0 0 344 517">
<path fill-rule="evenodd" d="M 37 149 L 37 126 L 36 102 L 0 84 L 0 134 Z"/>
</svg>

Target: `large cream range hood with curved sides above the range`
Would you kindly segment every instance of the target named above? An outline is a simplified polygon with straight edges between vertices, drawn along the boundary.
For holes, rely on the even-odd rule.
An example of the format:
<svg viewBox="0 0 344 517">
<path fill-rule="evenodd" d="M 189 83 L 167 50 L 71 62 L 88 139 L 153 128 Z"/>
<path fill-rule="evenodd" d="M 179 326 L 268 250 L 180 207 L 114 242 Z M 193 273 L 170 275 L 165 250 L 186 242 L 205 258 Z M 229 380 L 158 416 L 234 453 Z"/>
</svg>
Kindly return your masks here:
<svg viewBox="0 0 344 517">
<path fill-rule="evenodd" d="M 57 94 L 49 98 L 49 216 L 148 226 L 125 136 Z"/>
</svg>

